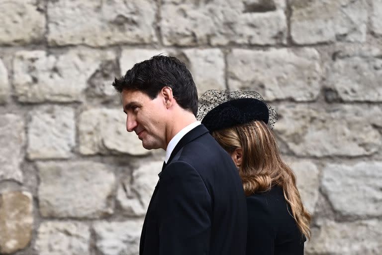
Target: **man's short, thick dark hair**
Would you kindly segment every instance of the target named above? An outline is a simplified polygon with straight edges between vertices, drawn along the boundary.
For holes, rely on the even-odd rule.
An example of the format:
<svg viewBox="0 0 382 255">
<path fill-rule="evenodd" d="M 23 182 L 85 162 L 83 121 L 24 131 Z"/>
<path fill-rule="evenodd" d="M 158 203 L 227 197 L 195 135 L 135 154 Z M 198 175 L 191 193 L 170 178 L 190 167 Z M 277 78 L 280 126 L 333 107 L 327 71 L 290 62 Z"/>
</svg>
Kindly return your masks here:
<svg viewBox="0 0 382 255">
<path fill-rule="evenodd" d="M 118 92 L 141 91 L 151 99 L 156 98 L 163 87 L 170 87 L 177 103 L 195 116 L 197 114 L 195 83 L 186 65 L 176 57 L 155 55 L 136 63 L 124 76 L 115 78 L 113 86 Z"/>
</svg>

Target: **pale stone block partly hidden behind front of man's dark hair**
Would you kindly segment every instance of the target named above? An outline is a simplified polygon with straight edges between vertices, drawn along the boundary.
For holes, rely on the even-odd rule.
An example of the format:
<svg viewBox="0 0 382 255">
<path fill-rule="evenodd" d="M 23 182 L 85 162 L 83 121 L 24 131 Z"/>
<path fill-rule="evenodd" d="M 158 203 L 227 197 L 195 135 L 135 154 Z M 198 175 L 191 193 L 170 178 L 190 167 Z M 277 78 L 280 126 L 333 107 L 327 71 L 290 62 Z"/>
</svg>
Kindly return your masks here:
<svg viewBox="0 0 382 255">
<path fill-rule="evenodd" d="M 154 55 L 164 54 L 168 55 L 165 49 L 124 49 L 122 50 L 119 59 L 119 66 L 121 68 L 121 75 L 125 75 L 126 71 L 131 69 L 136 63 L 150 59 Z"/>
</svg>

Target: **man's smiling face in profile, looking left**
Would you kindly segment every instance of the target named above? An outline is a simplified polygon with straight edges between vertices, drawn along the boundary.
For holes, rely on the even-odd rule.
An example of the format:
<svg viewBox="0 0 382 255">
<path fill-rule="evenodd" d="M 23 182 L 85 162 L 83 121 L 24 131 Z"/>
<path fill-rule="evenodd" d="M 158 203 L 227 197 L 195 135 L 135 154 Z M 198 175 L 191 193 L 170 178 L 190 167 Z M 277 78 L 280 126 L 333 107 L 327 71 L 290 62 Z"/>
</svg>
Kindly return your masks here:
<svg viewBox="0 0 382 255">
<path fill-rule="evenodd" d="M 163 98 L 151 99 L 141 91 L 123 90 L 126 129 L 135 131 L 146 149 L 166 149 L 166 106 Z"/>
</svg>

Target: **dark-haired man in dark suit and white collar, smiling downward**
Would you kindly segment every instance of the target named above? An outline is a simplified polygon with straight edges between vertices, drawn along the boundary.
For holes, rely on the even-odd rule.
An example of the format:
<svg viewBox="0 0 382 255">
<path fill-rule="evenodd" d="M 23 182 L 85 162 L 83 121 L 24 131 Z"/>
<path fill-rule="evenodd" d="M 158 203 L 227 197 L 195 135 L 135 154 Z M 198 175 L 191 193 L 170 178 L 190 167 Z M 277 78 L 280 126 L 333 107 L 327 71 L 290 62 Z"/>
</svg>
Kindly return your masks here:
<svg viewBox="0 0 382 255">
<path fill-rule="evenodd" d="M 185 64 L 157 55 L 113 86 L 122 94 L 127 131 L 146 149 L 166 150 L 139 254 L 244 255 L 243 187 L 230 156 L 196 122 L 197 91 Z"/>
</svg>

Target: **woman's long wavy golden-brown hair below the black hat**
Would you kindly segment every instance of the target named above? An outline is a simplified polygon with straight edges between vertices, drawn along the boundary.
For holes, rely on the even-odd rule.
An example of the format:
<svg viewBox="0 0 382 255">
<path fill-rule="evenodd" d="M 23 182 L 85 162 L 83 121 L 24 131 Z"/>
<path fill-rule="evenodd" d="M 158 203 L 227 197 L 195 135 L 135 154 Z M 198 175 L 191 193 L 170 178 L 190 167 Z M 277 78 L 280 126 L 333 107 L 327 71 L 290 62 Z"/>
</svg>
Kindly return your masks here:
<svg viewBox="0 0 382 255">
<path fill-rule="evenodd" d="M 280 157 L 271 129 L 263 121 L 212 132 L 212 136 L 228 152 L 242 148 L 242 163 L 238 167 L 245 194 L 269 191 L 278 185 L 291 209 L 300 232 L 310 238 L 310 215 L 302 205 L 293 171 Z"/>
</svg>

